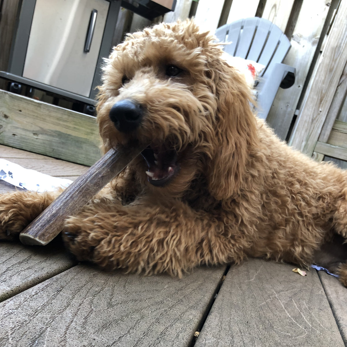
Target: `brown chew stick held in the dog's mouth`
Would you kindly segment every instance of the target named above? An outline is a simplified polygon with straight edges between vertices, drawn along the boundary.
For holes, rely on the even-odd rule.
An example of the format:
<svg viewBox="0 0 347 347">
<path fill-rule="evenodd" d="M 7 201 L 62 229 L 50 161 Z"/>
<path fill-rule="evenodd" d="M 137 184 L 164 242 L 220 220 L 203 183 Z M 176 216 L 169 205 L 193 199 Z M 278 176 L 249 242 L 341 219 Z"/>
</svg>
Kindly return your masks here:
<svg viewBox="0 0 347 347">
<path fill-rule="evenodd" d="M 134 146 L 123 151 L 110 149 L 20 233 L 20 241 L 26 245 L 43 246 L 51 242 L 63 229 L 66 218 L 81 211 L 94 195 L 146 147 L 147 145 Z"/>
</svg>

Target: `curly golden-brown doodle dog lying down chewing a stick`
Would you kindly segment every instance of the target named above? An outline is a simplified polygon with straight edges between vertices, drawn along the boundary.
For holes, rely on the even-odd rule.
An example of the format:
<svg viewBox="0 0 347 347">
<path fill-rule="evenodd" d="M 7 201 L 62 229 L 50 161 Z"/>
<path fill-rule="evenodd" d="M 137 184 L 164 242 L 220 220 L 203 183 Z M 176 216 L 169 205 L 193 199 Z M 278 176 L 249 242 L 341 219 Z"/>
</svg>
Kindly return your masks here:
<svg viewBox="0 0 347 347">
<path fill-rule="evenodd" d="M 289 148 L 250 101 L 244 78 L 193 21 L 129 34 L 104 66 L 103 152 L 150 145 L 66 219 L 66 247 L 103 268 L 181 276 L 246 257 L 308 266 L 324 244 L 344 240 L 347 172 Z M 0 238 L 14 239 L 54 197 L 3 195 Z M 347 285 L 345 259 L 322 262 Z"/>
</svg>

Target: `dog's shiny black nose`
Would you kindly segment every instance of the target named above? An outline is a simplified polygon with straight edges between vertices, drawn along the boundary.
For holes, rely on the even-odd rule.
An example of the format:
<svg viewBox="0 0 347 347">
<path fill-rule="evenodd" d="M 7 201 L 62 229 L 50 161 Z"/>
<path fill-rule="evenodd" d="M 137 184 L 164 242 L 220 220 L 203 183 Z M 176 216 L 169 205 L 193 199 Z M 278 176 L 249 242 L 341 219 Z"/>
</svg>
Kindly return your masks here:
<svg viewBox="0 0 347 347">
<path fill-rule="evenodd" d="M 122 133 L 129 133 L 141 123 L 142 113 L 139 103 L 125 99 L 112 106 L 109 116 L 117 130 Z"/>
</svg>

